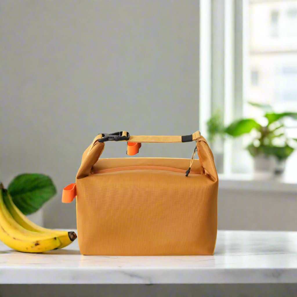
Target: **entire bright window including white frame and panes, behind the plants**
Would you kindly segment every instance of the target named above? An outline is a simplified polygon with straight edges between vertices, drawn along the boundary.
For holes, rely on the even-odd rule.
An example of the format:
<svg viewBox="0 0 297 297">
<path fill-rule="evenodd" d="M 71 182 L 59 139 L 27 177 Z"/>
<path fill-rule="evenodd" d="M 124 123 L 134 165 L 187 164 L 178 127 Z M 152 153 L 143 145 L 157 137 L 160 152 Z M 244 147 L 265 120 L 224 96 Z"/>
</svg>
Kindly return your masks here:
<svg viewBox="0 0 297 297">
<path fill-rule="evenodd" d="M 210 42 L 200 39 L 200 52 L 211 53 L 209 60 L 200 56 L 201 65 L 209 65 L 200 69 L 202 131 L 218 110 L 225 126 L 241 117 L 260 121 L 263 110 L 248 101 L 269 104 L 277 112 L 296 112 L 297 0 L 200 0 L 200 4 L 207 4 L 210 11 L 210 19 L 207 10 L 200 11 L 205 20 L 200 36 L 206 36 L 207 26 L 211 32 Z M 206 73 L 210 83 L 203 83 Z M 285 119 L 285 124 L 290 126 L 287 135 L 297 138 L 296 121 Z M 213 144 L 220 173 L 252 172 L 252 158 L 244 149 L 249 141 L 246 136 Z M 297 162 L 297 153 L 290 158 L 294 161 L 288 163 Z"/>
</svg>

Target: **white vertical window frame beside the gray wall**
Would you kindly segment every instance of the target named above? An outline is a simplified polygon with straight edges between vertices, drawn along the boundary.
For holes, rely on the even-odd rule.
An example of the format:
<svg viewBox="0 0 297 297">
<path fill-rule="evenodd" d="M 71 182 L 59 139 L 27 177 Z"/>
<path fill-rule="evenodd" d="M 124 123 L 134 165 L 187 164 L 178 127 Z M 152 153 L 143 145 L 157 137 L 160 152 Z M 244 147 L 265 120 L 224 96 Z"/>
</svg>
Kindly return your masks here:
<svg viewBox="0 0 297 297">
<path fill-rule="evenodd" d="M 222 110 L 224 125 L 244 116 L 247 7 L 248 0 L 200 0 L 199 127 L 206 137 L 206 122 L 216 110 Z M 211 145 L 216 151 L 221 144 Z M 227 138 L 223 146 L 222 173 L 251 170 L 252 162 L 247 162 L 251 157 L 242 149 L 242 138 Z"/>
</svg>

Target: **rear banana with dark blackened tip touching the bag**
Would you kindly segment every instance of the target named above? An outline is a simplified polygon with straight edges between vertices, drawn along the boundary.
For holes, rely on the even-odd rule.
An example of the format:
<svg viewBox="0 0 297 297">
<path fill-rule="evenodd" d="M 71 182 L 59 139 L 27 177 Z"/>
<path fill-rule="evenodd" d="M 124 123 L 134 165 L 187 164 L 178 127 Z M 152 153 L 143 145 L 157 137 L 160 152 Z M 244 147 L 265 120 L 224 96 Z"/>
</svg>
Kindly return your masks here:
<svg viewBox="0 0 297 297">
<path fill-rule="evenodd" d="M 77 238 L 75 232 L 73 231 L 67 232 L 61 230 L 52 230 L 34 224 L 15 206 L 9 193 L 4 195 L 3 198 L 5 205 L 15 222 L 17 222 L 26 230 L 37 232 L 39 234 L 52 234 L 54 237 L 58 237 L 59 241 L 61 242 L 61 245 L 58 247 L 59 249 L 67 247 L 67 245 L 71 244 L 72 241 Z"/>
</svg>

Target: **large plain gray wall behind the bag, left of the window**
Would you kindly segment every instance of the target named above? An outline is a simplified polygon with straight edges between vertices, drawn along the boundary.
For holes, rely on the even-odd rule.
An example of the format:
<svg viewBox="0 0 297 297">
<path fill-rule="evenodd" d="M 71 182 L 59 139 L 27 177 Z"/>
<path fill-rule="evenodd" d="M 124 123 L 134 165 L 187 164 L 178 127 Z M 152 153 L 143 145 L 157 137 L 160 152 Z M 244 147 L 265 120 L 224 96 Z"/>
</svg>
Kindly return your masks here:
<svg viewBox="0 0 297 297">
<path fill-rule="evenodd" d="M 62 188 L 100 132 L 198 127 L 198 1 L 1 1 L 1 180 L 50 175 L 45 225 L 76 225 Z M 193 144 L 139 156 L 190 157 Z M 124 157 L 108 143 L 104 157 Z"/>
</svg>

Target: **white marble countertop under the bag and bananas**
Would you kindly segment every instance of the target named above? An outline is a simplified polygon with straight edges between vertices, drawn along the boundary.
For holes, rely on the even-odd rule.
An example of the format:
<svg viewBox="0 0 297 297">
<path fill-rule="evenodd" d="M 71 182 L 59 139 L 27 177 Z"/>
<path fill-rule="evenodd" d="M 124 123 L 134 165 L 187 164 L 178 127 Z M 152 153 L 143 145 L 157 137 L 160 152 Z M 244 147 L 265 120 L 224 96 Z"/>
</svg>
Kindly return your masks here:
<svg viewBox="0 0 297 297">
<path fill-rule="evenodd" d="M 219 231 L 213 256 L 83 256 L 77 241 L 26 254 L 0 243 L 1 284 L 296 282 L 297 232 Z"/>
</svg>

